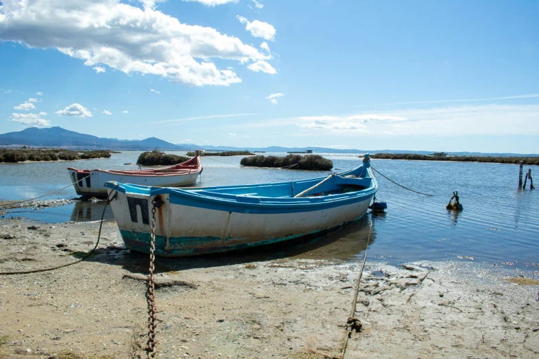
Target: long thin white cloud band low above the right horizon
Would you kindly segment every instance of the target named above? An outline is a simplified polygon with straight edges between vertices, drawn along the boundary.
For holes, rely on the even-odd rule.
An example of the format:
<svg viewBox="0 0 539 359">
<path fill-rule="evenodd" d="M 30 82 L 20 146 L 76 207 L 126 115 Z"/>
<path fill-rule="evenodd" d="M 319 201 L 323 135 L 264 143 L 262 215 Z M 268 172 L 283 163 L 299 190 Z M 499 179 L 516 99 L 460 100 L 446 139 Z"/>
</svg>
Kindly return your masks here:
<svg viewBox="0 0 539 359">
<path fill-rule="evenodd" d="M 511 121 L 507 121 L 510 118 Z M 539 135 L 539 105 L 468 105 L 297 118 L 304 129 L 377 135 Z M 264 126 L 269 126 L 266 123 Z M 262 124 L 259 126 L 261 127 Z"/>
</svg>

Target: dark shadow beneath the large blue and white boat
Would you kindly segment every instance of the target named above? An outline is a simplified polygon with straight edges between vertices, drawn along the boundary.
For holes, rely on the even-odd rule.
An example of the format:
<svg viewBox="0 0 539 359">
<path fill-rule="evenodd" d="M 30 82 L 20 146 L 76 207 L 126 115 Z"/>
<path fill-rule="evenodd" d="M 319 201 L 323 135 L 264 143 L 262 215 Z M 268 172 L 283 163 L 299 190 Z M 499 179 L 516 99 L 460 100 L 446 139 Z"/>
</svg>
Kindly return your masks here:
<svg viewBox="0 0 539 359">
<path fill-rule="evenodd" d="M 275 267 L 290 267 L 295 262 L 312 259 L 320 261 L 320 265 L 350 261 L 359 258 L 363 250 L 367 248 L 371 218 L 370 215 L 365 215 L 357 221 L 352 221 L 334 230 L 268 246 L 233 252 L 204 254 L 197 257 L 156 257 L 156 273 L 259 261 L 274 261 L 272 266 Z M 374 221 L 376 220 L 375 217 Z M 375 239 L 376 224 L 374 223 L 370 235 L 370 245 L 374 243 Z M 113 251 L 113 254 L 114 252 L 116 252 L 116 255 L 98 255 L 87 260 L 122 265 L 129 272 L 147 274 L 148 254 L 134 250 Z"/>
</svg>

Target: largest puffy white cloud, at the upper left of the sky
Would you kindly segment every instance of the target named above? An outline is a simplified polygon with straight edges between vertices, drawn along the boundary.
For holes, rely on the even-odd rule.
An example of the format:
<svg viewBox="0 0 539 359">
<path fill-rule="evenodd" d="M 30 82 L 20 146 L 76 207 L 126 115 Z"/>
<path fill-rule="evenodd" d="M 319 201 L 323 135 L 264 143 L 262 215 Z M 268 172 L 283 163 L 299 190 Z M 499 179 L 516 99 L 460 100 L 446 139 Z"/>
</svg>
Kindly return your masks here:
<svg viewBox="0 0 539 359">
<path fill-rule="evenodd" d="M 237 37 L 180 23 L 154 9 L 154 1 L 143 9 L 121 0 L 1 3 L 0 41 L 55 48 L 91 67 L 103 64 L 195 86 L 230 85 L 241 79 L 233 70 L 219 69 L 213 58 L 239 63 L 271 58 Z"/>
</svg>

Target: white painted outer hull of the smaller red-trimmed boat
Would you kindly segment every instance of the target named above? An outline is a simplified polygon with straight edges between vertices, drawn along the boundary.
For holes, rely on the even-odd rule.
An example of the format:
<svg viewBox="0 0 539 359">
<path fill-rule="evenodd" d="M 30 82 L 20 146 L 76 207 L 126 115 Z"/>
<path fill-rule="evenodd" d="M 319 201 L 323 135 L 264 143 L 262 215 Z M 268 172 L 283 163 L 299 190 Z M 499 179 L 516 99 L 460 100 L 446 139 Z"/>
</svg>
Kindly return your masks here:
<svg viewBox="0 0 539 359">
<path fill-rule="evenodd" d="M 68 169 L 72 182 L 77 182 L 77 173 Z M 129 176 L 106 173 L 101 171 L 89 171 L 89 178 L 74 183 L 76 194 L 86 197 L 106 197 L 107 188 L 105 182 L 116 181 L 125 184 L 138 184 L 140 186 L 180 187 L 197 182 L 199 173 L 191 173 L 178 176 Z M 86 177 L 84 175 L 83 177 Z M 88 186 L 89 184 L 89 186 Z"/>
</svg>

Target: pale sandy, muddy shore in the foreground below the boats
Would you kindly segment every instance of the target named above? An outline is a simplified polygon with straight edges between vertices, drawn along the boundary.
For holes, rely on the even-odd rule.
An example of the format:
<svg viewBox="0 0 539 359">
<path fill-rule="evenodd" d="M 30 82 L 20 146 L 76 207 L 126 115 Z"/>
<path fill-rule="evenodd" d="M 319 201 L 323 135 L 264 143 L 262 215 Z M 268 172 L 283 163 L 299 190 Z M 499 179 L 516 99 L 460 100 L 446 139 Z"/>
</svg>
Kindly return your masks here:
<svg viewBox="0 0 539 359">
<path fill-rule="evenodd" d="M 0 226 L 0 272 L 74 261 L 98 224 Z M 159 358 L 333 358 L 360 263 L 235 255 L 158 259 Z M 538 358 L 539 268 L 368 262 L 346 358 Z M 144 357 L 146 255 L 114 222 L 76 265 L 0 276 L 0 358 Z M 522 276 L 522 277 L 519 277 Z"/>
</svg>

